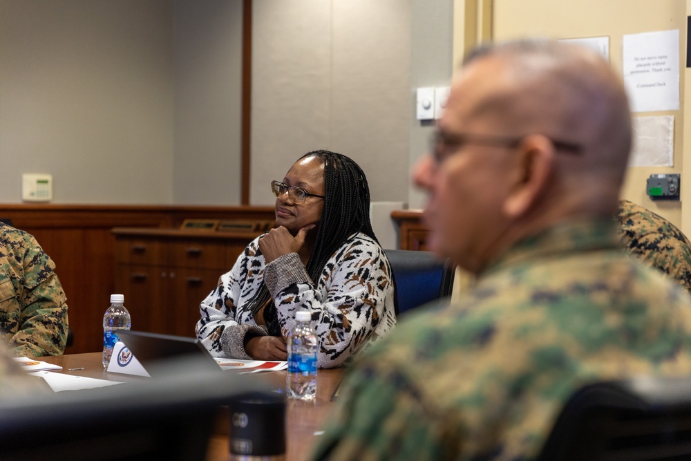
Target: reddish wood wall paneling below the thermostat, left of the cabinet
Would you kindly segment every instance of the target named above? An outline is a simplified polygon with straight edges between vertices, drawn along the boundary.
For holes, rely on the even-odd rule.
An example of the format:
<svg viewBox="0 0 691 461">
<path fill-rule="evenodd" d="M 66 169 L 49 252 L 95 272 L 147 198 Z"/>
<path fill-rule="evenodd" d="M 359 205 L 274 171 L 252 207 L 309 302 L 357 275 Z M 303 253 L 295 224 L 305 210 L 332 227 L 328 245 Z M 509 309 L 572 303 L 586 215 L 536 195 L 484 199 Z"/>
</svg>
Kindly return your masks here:
<svg viewBox="0 0 691 461">
<path fill-rule="evenodd" d="M 36 237 L 56 264 L 68 298 L 74 342 L 68 352 L 93 352 L 103 344 L 102 319 L 113 293 L 117 225 L 162 227 L 170 216 L 158 207 L 15 205 L 0 207 L 0 216 Z"/>
</svg>

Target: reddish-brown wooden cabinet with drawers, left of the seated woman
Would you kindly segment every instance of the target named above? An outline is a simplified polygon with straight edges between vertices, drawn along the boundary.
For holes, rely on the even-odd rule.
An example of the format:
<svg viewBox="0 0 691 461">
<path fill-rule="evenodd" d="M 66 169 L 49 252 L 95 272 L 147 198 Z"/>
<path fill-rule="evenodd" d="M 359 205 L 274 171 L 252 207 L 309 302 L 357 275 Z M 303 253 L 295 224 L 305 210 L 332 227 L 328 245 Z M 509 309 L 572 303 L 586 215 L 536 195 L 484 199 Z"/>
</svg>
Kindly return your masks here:
<svg viewBox="0 0 691 461">
<path fill-rule="evenodd" d="M 199 304 L 260 233 L 116 227 L 115 290 L 132 329 L 194 336 Z"/>
</svg>

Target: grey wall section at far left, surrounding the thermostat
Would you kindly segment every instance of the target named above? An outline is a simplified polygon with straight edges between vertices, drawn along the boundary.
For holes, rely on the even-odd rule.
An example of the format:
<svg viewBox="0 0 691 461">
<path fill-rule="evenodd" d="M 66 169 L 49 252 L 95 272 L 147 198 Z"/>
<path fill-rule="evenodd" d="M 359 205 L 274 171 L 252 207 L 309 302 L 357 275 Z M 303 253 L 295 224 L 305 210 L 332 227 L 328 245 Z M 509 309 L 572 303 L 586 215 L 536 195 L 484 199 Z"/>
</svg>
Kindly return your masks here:
<svg viewBox="0 0 691 461">
<path fill-rule="evenodd" d="M 167 0 L 0 1 L 0 200 L 52 173 L 59 203 L 170 203 Z"/>
</svg>

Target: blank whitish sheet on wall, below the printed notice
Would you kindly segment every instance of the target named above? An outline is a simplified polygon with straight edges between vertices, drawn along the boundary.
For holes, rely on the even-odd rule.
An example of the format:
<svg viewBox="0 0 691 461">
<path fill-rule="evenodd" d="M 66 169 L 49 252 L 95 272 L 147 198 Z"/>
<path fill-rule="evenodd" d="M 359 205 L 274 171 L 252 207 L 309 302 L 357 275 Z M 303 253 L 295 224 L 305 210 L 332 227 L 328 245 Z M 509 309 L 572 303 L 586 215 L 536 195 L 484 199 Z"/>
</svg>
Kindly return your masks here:
<svg viewBox="0 0 691 461">
<path fill-rule="evenodd" d="M 674 167 L 674 115 L 634 117 L 630 167 Z"/>
</svg>

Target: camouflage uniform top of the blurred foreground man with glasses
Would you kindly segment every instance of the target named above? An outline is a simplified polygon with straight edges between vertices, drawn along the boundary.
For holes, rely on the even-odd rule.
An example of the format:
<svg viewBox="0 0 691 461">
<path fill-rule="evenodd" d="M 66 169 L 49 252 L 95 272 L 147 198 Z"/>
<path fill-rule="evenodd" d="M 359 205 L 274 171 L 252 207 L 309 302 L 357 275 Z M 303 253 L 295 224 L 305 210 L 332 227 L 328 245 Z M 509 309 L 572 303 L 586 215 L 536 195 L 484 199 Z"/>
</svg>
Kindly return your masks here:
<svg viewBox="0 0 691 461">
<path fill-rule="evenodd" d="M 354 364 L 314 459 L 528 460 L 576 388 L 691 373 L 691 297 L 616 223 L 527 238 Z"/>
</svg>

